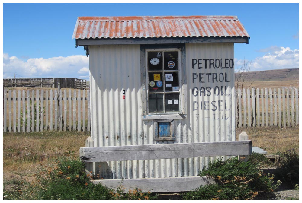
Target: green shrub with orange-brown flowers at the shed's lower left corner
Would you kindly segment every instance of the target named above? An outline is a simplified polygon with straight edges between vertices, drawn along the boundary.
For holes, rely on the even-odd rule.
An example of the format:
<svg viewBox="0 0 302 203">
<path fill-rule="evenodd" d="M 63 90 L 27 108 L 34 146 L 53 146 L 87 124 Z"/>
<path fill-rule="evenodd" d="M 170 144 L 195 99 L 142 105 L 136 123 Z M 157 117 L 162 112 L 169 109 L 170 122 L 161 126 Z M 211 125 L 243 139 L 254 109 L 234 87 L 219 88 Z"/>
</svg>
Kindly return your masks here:
<svg viewBox="0 0 302 203">
<path fill-rule="evenodd" d="M 92 176 L 85 173 L 84 163 L 74 158 L 56 160 L 52 165 L 41 164 L 36 174 L 37 199 L 43 200 L 135 200 L 153 199 L 151 193 L 140 189 L 124 192 L 119 186 L 117 192 L 101 184 L 93 184 Z"/>
</svg>

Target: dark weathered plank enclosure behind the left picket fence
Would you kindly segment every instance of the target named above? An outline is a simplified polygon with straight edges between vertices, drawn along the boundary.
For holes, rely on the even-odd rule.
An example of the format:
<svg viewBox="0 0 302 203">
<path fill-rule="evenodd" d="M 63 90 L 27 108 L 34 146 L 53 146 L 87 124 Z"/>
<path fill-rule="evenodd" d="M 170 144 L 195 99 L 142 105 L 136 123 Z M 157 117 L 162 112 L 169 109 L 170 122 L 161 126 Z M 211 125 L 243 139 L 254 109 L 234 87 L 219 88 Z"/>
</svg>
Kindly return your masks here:
<svg viewBox="0 0 302 203">
<path fill-rule="evenodd" d="M 61 88 L 73 88 L 84 90 L 86 80 L 78 78 L 9 78 L 3 79 L 3 87 L 46 87 L 57 88 L 58 83 Z"/>
</svg>

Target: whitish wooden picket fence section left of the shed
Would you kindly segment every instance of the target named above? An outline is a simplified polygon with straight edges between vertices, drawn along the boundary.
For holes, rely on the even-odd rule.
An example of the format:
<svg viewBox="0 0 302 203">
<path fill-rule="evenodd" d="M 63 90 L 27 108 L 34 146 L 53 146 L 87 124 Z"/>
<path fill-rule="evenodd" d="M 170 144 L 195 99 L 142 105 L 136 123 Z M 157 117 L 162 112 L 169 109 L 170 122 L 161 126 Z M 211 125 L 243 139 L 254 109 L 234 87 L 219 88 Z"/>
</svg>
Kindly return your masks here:
<svg viewBox="0 0 302 203">
<path fill-rule="evenodd" d="M 3 100 L 4 132 L 90 131 L 89 90 L 5 89 Z"/>
</svg>

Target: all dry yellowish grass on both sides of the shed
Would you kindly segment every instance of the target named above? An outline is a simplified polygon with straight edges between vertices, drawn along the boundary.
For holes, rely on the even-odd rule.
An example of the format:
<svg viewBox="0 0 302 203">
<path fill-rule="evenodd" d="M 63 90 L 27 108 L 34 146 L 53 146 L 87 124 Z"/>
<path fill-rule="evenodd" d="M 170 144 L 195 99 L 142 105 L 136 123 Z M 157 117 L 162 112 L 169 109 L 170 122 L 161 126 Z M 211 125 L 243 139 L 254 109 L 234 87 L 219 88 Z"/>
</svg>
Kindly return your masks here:
<svg viewBox="0 0 302 203">
<path fill-rule="evenodd" d="M 278 154 L 289 149 L 299 153 L 298 127 L 236 128 L 236 136 L 242 131 L 249 135 L 253 146 L 264 149 L 268 154 Z M 23 194 L 29 191 L 35 179 L 33 174 L 41 164 L 50 164 L 53 159 L 66 156 L 78 159 L 79 148 L 85 146 L 88 136 L 90 132 L 76 131 L 3 133 L 4 192 L 20 195 L 19 190 L 24 191 Z"/>
</svg>

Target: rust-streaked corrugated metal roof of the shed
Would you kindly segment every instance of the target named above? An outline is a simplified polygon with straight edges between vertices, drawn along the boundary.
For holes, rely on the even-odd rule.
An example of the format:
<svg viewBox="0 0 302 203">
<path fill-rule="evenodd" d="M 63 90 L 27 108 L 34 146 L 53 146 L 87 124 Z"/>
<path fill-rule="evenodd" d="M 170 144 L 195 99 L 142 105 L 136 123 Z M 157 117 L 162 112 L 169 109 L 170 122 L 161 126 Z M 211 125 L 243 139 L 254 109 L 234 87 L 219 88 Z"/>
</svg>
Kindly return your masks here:
<svg viewBox="0 0 302 203">
<path fill-rule="evenodd" d="M 72 38 L 249 37 L 237 16 L 78 17 Z"/>
</svg>

